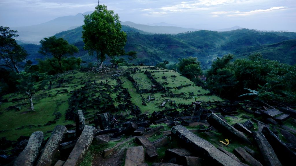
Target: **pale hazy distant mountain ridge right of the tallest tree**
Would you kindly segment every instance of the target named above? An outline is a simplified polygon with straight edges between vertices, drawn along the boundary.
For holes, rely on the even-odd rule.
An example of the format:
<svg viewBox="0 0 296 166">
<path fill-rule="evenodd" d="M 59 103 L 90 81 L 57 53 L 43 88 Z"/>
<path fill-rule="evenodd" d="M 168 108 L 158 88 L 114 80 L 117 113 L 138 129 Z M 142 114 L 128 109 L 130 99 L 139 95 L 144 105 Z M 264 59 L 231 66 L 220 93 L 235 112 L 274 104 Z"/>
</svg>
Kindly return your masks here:
<svg viewBox="0 0 296 166">
<path fill-rule="evenodd" d="M 190 31 L 197 31 L 198 29 L 194 28 L 182 28 L 182 27 L 175 27 L 175 26 L 150 26 L 150 25 L 143 25 L 143 24 L 136 24 L 130 21 L 121 22 L 121 25 L 127 25 L 145 32 L 149 33 L 157 33 L 157 34 L 178 34 Z"/>
</svg>

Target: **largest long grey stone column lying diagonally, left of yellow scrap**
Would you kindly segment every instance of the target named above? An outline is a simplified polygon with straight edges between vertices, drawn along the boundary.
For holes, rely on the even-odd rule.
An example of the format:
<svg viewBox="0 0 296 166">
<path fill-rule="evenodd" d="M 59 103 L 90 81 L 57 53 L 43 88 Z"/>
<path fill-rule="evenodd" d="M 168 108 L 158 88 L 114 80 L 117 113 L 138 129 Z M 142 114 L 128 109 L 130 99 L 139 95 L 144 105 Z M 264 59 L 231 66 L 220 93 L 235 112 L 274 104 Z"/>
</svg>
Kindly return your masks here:
<svg viewBox="0 0 296 166">
<path fill-rule="evenodd" d="M 184 146 L 190 147 L 196 155 L 202 157 L 206 162 L 224 166 L 241 165 L 239 162 L 214 147 L 210 142 L 187 130 L 184 126 L 174 126 L 171 132 L 185 143 Z"/>
</svg>

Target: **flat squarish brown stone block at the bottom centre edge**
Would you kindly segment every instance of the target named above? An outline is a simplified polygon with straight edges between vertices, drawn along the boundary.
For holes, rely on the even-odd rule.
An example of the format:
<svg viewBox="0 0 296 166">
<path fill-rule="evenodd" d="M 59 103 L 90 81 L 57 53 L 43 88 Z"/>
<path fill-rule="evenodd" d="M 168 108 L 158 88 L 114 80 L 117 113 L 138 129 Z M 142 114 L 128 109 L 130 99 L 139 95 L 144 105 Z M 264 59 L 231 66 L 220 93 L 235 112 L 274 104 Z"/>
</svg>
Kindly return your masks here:
<svg viewBox="0 0 296 166">
<path fill-rule="evenodd" d="M 144 162 L 144 148 L 139 147 L 130 147 L 126 150 L 126 161 L 124 166 L 135 166 L 140 165 Z"/>
</svg>

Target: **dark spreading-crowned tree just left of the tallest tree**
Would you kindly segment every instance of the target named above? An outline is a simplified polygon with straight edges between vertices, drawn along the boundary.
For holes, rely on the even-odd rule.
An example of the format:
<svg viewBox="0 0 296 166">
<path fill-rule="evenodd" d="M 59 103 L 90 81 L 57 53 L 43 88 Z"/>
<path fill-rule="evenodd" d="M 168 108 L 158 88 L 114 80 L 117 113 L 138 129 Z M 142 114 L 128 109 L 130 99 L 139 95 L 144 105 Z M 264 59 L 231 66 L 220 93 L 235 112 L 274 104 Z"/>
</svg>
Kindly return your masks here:
<svg viewBox="0 0 296 166">
<path fill-rule="evenodd" d="M 57 59 L 59 70 L 62 72 L 62 57 L 73 55 L 78 52 L 78 48 L 71 45 L 63 38 L 56 38 L 55 36 L 44 38 L 40 40 L 41 48 L 39 53 L 43 55 L 52 55 Z"/>
</svg>

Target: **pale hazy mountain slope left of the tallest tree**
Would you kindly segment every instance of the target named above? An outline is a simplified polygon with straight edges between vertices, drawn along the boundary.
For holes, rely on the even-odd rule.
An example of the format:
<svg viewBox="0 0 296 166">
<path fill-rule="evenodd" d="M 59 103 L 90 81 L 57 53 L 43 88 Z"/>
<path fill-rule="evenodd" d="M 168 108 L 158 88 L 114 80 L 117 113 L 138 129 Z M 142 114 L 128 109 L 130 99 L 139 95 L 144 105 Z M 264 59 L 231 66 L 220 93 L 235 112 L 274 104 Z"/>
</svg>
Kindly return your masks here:
<svg viewBox="0 0 296 166">
<path fill-rule="evenodd" d="M 84 14 L 90 14 L 86 12 Z M 53 36 L 56 33 L 70 30 L 83 25 L 83 15 L 78 13 L 75 16 L 58 17 L 51 21 L 31 26 L 11 27 L 18 31 L 17 40 L 30 41 L 30 43 L 39 44 L 39 41 L 45 37 Z"/>
</svg>

